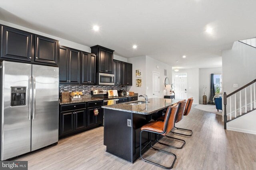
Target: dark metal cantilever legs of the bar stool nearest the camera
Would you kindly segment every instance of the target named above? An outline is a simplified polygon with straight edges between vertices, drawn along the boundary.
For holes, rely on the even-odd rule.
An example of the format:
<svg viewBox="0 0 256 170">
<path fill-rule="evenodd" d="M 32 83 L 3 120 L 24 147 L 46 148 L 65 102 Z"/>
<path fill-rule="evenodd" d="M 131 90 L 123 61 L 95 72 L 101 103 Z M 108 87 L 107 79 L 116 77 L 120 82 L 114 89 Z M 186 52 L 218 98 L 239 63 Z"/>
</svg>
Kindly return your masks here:
<svg viewBox="0 0 256 170">
<path fill-rule="evenodd" d="M 174 156 L 174 161 L 172 162 L 172 166 L 170 166 L 170 167 L 163 166 L 163 165 L 157 164 L 157 163 L 155 163 L 155 162 L 152 162 L 152 161 L 150 161 L 150 160 L 146 160 L 145 158 L 142 157 L 141 151 L 142 151 L 142 149 L 144 149 L 144 148 L 146 147 L 146 146 L 145 146 L 145 147 L 143 147 L 143 148 L 141 149 L 141 137 L 142 137 L 141 134 L 142 134 L 143 131 L 146 131 L 146 130 L 140 131 L 140 157 L 142 158 L 142 160 L 144 160 L 145 162 L 149 162 L 149 163 L 151 163 L 151 164 L 160 166 L 160 167 L 162 167 L 162 168 L 166 168 L 166 169 L 171 169 L 171 168 L 173 168 L 174 163 L 175 163 L 175 161 L 176 161 L 176 159 L 177 159 L 177 156 L 176 156 L 175 154 L 171 153 L 171 152 L 167 152 L 167 151 L 161 150 L 161 149 L 156 149 L 156 148 L 154 148 L 154 147 L 152 146 L 152 144 L 151 144 L 151 141 L 152 141 L 151 133 L 154 133 L 154 132 L 148 131 L 148 132 L 150 133 L 150 141 L 146 144 L 146 146 L 148 146 L 148 144 L 150 144 L 150 147 L 151 147 L 152 149 L 158 150 L 158 151 L 160 151 L 160 152 L 164 152 L 164 153 L 167 153 L 167 154 L 170 154 L 170 155 Z M 158 133 L 156 133 L 156 134 L 158 134 Z"/>
</svg>

